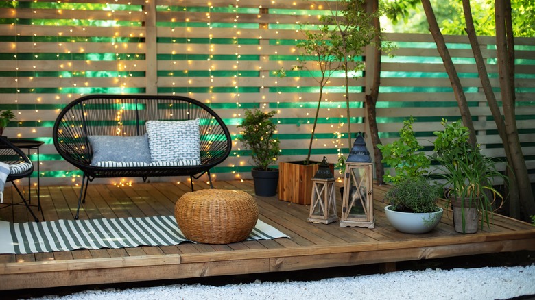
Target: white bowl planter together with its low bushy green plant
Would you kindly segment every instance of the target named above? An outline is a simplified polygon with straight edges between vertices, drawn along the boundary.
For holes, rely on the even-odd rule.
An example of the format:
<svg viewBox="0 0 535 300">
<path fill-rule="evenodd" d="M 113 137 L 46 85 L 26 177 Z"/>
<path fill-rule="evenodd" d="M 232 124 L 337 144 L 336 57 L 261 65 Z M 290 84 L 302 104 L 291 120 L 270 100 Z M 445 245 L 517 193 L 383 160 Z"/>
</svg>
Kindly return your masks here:
<svg viewBox="0 0 535 300">
<path fill-rule="evenodd" d="M 388 222 L 400 232 L 424 234 L 433 230 L 444 210 L 436 201 L 441 187 L 432 184 L 425 177 L 405 177 L 386 192 L 385 215 Z"/>
</svg>

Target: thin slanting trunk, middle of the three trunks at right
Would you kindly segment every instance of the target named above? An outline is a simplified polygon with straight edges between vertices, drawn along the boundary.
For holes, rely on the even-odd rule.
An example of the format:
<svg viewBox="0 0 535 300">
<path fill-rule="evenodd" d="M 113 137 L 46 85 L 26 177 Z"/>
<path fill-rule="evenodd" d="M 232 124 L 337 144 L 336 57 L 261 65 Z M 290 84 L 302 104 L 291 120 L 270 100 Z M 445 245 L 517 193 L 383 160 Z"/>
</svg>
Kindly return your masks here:
<svg viewBox="0 0 535 300">
<path fill-rule="evenodd" d="M 498 129 L 498 134 L 503 144 L 503 149 L 505 149 L 506 151 L 508 166 L 512 168 L 514 162 L 511 157 L 511 151 L 509 150 L 509 141 L 508 136 L 506 134 L 506 125 L 503 122 L 503 118 L 501 116 L 500 108 L 498 106 L 498 102 L 496 101 L 494 91 L 492 91 L 492 84 L 490 84 L 490 79 L 488 78 L 485 61 L 481 52 L 481 48 L 479 47 L 479 42 L 477 41 L 474 21 L 472 18 L 472 9 L 470 7 L 470 0 L 462 0 L 462 6 L 464 11 L 464 20 L 466 21 L 466 29 L 464 30 L 466 31 L 466 34 L 468 34 L 468 39 L 470 40 L 470 45 L 472 47 L 472 52 L 475 58 L 475 64 L 477 66 L 477 73 L 479 74 L 479 79 L 481 80 L 488 107 L 490 108 L 490 112 L 492 112 L 492 116 L 494 117 L 494 121 Z M 510 168 L 507 168 L 506 175 L 509 175 L 508 173 L 510 173 Z M 516 178 L 510 177 L 508 191 L 509 216 L 518 219 L 520 218 L 520 199 L 518 186 L 516 184 Z"/>
</svg>

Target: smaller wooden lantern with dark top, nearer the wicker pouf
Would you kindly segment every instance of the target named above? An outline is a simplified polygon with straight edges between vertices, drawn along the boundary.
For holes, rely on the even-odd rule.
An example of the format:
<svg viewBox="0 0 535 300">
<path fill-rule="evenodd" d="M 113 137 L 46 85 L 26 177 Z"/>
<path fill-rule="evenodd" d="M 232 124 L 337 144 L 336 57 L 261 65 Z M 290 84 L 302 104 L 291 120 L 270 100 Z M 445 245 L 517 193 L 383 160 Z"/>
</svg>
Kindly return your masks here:
<svg viewBox="0 0 535 300">
<path fill-rule="evenodd" d="M 335 178 L 326 158 L 312 180 L 309 222 L 329 224 L 338 221 L 336 214 Z"/>
</svg>

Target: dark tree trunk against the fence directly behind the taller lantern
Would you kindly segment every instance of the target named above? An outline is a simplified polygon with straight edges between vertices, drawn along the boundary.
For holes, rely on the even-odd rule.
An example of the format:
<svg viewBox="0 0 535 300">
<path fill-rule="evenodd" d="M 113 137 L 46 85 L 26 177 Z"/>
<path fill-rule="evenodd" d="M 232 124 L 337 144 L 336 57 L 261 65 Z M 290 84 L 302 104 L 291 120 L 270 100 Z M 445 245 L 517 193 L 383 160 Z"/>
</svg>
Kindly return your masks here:
<svg viewBox="0 0 535 300">
<path fill-rule="evenodd" d="M 372 12 L 379 10 L 379 1 L 375 0 L 372 3 Z M 377 32 L 381 31 L 381 23 L 379 18 L 373 18 L 373 25 Z M 366 111 L 368 112 L 368 125 L 370 126 L 370 138 L 372 139 L 373 155 L 375 158 L 375 177 L 379 184 L 383 184 L 383 176 L 385 175 L 385 168 L 383 167 L 383 153 L 377 148 L 381 144 L 379 138 L 379 128 L 377 128 L 377 111 L 376 104 L 379 99 L 379 86 L 381 86 L 381 36 L 375 36 L 375 57 L 373 60 L 373 83 L 370 89 L 370 94 L 366 95 Z M 368 61 L 369 62 L 369 61 Z"/>
</svg>

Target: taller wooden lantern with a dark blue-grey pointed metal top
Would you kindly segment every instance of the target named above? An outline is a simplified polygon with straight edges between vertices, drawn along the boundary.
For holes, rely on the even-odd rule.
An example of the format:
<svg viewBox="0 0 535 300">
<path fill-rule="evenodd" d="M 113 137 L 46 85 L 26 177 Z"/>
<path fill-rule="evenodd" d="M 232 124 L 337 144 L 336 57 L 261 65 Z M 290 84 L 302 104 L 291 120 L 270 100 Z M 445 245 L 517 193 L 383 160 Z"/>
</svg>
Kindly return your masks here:
<svg viewBox="0 0 535 300">
<path fill-rule="evenodd" d="M 340 227 L 375 227 L 370 152 L 359 132 L 346 160 Z"/>
</svg>

